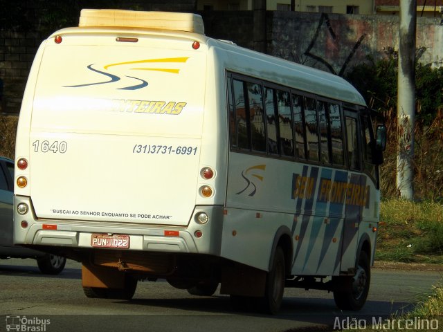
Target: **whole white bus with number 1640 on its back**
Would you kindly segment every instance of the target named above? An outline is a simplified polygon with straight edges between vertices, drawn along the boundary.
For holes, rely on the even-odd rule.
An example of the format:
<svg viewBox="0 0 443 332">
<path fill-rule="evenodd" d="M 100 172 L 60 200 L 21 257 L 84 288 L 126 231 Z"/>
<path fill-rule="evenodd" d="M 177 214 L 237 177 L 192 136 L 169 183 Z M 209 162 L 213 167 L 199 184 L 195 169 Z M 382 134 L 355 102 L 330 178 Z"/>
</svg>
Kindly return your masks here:
<svg viewBox="0 0 443 332">
<path fill-rule="evenodd" d="M 359 309 L 379 221 L 375 121 L 345 80 L 206 37 L 199 15 L 82 10 L 30 71 L 15 243 L 82 262 L 88 297 L 162 278 L 269 313 L 285 286 Z"/>
</svg>

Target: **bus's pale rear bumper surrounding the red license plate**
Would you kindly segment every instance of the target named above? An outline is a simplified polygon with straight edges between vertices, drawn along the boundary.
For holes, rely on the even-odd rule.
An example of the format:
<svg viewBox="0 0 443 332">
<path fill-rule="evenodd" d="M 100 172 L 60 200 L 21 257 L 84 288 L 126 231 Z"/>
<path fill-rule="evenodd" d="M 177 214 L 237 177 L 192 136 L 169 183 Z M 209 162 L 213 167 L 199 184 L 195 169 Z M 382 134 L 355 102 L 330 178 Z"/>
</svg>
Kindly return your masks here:
<svg viewBox="0 0 443 332">
<path fill-rule="evenodd" d="M 26 214 L 17 213 L 17 205 L 26 203 Z M 223 207 L 221 205 L 196 206 L 190 222 L 185 227 L 170 225 L 134 224 L 109 221 L 78 221 L 66 219 L 37 219 L 32 201 L 28 196 L 14 198 L 14 242 L 34 246 L 55 246 L 92 249 L 92 234 L 127 234 L 129 248 L 149 252 L 177 252 L 220 255 Z M 195 214 L 206 212 L 208 223 L 202 225 L 195 221 Z M 21 222 L 26 221 L 26 228 Z M 202 236 L 196 237 L 200 231 Z"/>
</svg>

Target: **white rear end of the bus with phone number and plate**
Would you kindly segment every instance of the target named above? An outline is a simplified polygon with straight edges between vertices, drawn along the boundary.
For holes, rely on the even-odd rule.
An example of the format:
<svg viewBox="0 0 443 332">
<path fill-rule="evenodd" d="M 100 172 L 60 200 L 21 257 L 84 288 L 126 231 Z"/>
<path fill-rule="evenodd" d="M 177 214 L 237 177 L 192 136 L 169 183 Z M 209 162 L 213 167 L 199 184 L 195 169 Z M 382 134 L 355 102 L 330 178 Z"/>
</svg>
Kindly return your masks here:
<svg viewBox="0 0 443 332">
<path fill-rule="evenodd" d="M 214 165 L 201 164 L 205 80 L 197 33 L 49 37 L 19 120 L 15 243 L 82 261 L 91 296 L 130 293 L 125 271 L 172 275 L 177 254 L 217 255 L 222 208 Z"/>
</svg>

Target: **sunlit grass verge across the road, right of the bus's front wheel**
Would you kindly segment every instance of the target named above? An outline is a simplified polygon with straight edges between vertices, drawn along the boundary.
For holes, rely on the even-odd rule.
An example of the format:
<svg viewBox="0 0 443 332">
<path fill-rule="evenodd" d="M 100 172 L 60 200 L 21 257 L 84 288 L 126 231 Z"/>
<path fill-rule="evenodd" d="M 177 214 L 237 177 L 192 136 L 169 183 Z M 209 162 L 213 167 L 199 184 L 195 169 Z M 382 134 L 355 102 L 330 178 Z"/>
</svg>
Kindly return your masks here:
<svg viewBox="0 0 443 332">
<path fill-rule="evenodd" d="M 443 264 L 443 205 L 383 201 L 375 259 Z"/>
</svg>

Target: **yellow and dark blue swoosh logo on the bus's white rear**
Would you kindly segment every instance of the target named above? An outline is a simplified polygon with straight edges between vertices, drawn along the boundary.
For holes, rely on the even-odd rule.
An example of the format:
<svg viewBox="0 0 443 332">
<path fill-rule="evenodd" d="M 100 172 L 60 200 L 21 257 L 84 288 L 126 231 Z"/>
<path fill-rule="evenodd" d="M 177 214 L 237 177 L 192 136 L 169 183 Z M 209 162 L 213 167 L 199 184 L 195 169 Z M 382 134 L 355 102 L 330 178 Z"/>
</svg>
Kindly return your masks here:
<svg viewBox="0 0 443 332">
<path fill-rule="evenodd" d="M 122 79 L 122 77 L 115 75 L 113 73 L 109 73 L 108 69 L 115 66 L 129 66 L 130 71 L 156 71 L 156 72 L 163 72 L 163 73 L 171 73 L 171 74 L 178 74 L 180 72 L 179 68 L 159 68 L 156 66 L 150 66 L 150 67 L 138 67 L 132 65 L 137 64 L 183 64 L 185 63 L 189 57 L 168 57 L 163 59 L 143 59 L 143 60 L 136 60 L 136 61 L 129 61 L 129 62 L 118 62 L 116 64 L 107 64 L 103 66 L 103 70 L 100 70 L 98 68 L 94 68 L 93 66 L 96 66 L 96 64 L 89 64 L 87 66 L 89 71 L 92 71 L 93 73 L 97 73 L 98 75 L 101 75 L 102 77 L 107 77 L 107 80 L 100 80 L 98 82 L 89 82 L 84 84 L 75 84 L 75 85 L 66 85 L 63 86 L 64 88 L 81 88 L 84 86 L 93 86 L 93 85 L 102 85 L 102 84 L 110 84 L 118 82 Z M 141 79 L 140 77 L 134 77 L 125 75 L 126 78 L 129 78 L 132 81 L 136 81 L 136 84 L 131 84 L 128 86 L 124 86 L 122 88 L 118 88 L 118 90 L 138 90 L 143 89 L 145 86 L 148 85 L 147 81 Z"/>
</svg>

